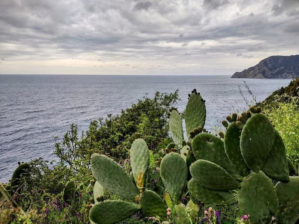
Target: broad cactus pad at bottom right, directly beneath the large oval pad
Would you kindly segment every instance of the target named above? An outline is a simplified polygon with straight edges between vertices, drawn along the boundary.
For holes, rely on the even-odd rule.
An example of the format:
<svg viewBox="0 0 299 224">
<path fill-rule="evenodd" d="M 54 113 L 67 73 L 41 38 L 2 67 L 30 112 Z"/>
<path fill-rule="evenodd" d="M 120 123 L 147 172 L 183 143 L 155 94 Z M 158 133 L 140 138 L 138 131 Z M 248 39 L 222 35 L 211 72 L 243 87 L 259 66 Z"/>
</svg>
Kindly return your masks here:
<svg viewBox="0 0 299 224">
<path fill-rule="evenodd" d="M 252 224 L 270 223 L 278 214 L 275 188 L 263 171 L 244 177 L 238 195 L 241 214 L 250 216 Z"/>
</svg>

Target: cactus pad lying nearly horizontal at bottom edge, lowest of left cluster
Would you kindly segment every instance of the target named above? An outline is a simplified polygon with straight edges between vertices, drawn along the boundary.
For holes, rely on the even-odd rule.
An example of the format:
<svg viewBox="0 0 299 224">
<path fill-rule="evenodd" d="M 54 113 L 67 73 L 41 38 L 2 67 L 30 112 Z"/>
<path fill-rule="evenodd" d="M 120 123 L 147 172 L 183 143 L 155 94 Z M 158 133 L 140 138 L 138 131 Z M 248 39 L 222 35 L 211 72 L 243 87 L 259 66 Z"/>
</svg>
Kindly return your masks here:
<svg viewBox="0 0 299 224">
<path fill-rule="evenodd" d="M 116 224 L 133 216 L 139 210 L 139 205 L 130 202 L 114 200 L 98 202 L 91 208 L 89 219 L 95 224 Z"/>
</svg>

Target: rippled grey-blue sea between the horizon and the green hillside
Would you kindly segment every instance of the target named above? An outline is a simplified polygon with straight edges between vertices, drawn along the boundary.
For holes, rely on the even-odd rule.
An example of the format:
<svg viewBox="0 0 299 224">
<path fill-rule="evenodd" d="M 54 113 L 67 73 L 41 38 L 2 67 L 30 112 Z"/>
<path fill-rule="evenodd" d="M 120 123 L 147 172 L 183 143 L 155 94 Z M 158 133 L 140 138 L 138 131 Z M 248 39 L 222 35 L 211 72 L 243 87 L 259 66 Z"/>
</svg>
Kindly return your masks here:
<svg viewBox="0 0 299 224">
<path fill-rule="evenodd" d="M 290 82 L 245 81 L 257 101 Z M 229 76 L 0 75 L 0 181 L 10 179 L 18 161 L 55 159 L 53 136 L 62 140 L 71 123 L 86 130 L 90 121 L 120 113 L 155 91 L 178 89 L 182 112 L 196 88 L 206 100 L 205 127 L 212 130 L 229 113 L 246 108 L 239 85 L 241 79 Z"/>
</svg>

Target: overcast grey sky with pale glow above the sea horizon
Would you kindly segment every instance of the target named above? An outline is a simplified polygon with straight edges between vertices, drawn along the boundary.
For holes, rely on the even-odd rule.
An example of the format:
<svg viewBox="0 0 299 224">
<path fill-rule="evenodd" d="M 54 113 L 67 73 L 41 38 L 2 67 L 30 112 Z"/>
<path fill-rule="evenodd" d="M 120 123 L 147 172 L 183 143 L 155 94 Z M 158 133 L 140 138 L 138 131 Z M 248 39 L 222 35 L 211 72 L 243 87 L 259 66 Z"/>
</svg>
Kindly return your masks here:
<svg viewBox="0 0 299 224">
<path fill-rule="evenodd" d="M 299 0 L 0 0 L 0 74 L 232 75 L 299 54 Z"/>
</svg>

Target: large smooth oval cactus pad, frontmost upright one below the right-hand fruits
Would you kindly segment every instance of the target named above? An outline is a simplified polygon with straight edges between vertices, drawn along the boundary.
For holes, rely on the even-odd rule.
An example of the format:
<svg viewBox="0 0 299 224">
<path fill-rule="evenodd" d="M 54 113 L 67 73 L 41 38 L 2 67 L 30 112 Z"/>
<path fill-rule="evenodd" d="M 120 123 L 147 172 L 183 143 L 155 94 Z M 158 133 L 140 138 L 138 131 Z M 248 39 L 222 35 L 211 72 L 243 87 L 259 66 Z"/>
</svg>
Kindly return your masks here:
<svg viewBox="0 0 299 224">
<path fill-rule="evenodd" d="M 267 159 L 274 141 L 275 131 L 263 113 L 253 114 L 242 129 L 240 147 L 247 166 L 259 172 Z"/>
</svg>

